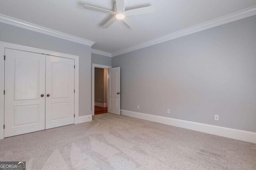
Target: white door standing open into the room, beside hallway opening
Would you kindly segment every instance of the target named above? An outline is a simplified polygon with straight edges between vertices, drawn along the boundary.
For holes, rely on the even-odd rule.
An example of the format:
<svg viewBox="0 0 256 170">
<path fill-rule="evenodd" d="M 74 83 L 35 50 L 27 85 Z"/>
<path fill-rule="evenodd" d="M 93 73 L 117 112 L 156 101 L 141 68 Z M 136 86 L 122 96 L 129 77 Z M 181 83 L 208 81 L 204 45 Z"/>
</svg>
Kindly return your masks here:
<svg viewBox="0 0 256 170">
<path fill-rule="evenodd" d="M 120 67 L 108 69 L 108 112 L 120 115 Z"/>
</svg>

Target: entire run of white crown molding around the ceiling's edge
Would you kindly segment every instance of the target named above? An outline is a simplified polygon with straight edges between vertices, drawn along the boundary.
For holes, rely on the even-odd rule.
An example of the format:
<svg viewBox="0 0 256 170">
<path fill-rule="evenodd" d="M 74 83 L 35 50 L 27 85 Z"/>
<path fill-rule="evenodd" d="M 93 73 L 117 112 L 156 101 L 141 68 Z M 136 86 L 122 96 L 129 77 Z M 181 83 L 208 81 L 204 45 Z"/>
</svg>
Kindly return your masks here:
<svg viewBox="0 0 256 170">
<path fill-rule="evenodd" d="M 185 36 L 185 35 L 196 33 L 196 32 L 199 32 L 199 31 L 203 31 L 203 30 L 206 30 L 206 29 L 209 29 L 209 28 L 212 28 L 212 27 L 216 27 L 216 26 L 219 26 L 219 25 L 223 25 L 225 23 L 240 20 L 240 19 L 247 18 L 247 17 L 254 16 L 254 15 L 256 15 L 256 6 L 252 6 L 250 8 L 246 8 L 244 10 L 240 10 L 238 12 L 234 12 L 234 13 L 228 14 L 226 16 L 216 18 L 214 20 L 210 20 L 210 21 L 207 21 L 207 22 L 204 22 L 204 23 L 192 26 L 192 27 L 188 27 L 186 29 L 176 31 L 174 33 L 170 33 L 170 34 L 164 35 L 162 37 L 158 37 L 156 39 L 152 39 L 150 41 L 146 41 L 144 43 L 140 43 L 138 45 L 134 45 L 134 46 L 128 47 L 126 49 L 122 49 L 120 51 L 116 51 L 114 53 L 107 53 L 107 52 L 96 50 L 96 49 L 92 49 L 92 53 L 99 54 L 99 55 L 104 55 L 104 56 L 108 56 L 108 57 L 114 57 L 114 56 L 118 56 L 118 55 L 121 55 L 121 54 L 124 54 L 124 53 L 128 53 L 128 52 L 131 52 L 131 51 L 135 51 L 135 50 L 138 50 L 138 49 L 149 47 L 151 45 L 163 43 L 165 41 L 176 39 L 178 37 L 182 37 L 182 36 Z M 29 23 L 29 22 L 26 22 L 26 21 L 18 20 L 16 18 L 5 16 L 3 14 L 0 14 L 0 22 L 7 23 L 7 24 L 10 24 L 10 25 L 14 25 L 14 26 L 18 26 L 18 27 L 25 28 L 25 29 L 29 29 L 31 31 L 36 31 L 36 32 L 39 32 L 39 33 L 44 33 L 46 35 L 51 35 L 51 36 L 58 37 L 58 38 L 61 38 L 61 39 L 74 41 L 76 43 L 81 43 L 81 44 L 88 45 L 88 46 L 92 46 L 95 43 L 94 41 L 90 41 L 90 40 L 87 40 L 87 39 L 82 39 L 80 37 L 76 37 L 76 36 L 73 36 L 73 35 L 62 33 L 60 31 L 56 31 L 56 30 L 53 30 L 53 29 L 49 29 L 49 28 L 46 28 L 46 27 L 42 27 L 42 26 L 33 24 L 33 23 Z"/>
</svg>

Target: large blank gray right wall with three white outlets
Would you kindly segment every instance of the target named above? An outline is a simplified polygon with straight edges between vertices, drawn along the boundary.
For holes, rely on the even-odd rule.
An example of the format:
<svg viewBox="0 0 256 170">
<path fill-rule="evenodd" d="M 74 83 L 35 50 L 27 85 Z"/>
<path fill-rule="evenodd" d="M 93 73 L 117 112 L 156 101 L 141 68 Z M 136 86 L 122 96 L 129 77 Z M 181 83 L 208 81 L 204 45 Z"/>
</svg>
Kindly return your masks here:
<svg viewBox="0 0 256 170">
<path fill-rule="evenodd" d="M 112 66 L 121 67 L 121 109 L 256 132 L 256 16 L 112 57 Z"/>
</svg>

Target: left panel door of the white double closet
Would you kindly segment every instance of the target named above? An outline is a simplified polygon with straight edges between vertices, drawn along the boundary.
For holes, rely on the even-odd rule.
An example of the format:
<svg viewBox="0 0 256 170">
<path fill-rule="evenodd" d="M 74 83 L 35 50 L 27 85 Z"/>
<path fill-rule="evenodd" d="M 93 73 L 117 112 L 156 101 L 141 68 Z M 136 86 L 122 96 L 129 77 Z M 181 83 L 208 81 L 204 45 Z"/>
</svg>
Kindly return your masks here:
<svg viewBox="0 0 256 170">
<path fill-rule="evenodd" d="M 4 137 L 43 130 L 45 55 L 14 49 L 5 55 Z"/>
</svg>

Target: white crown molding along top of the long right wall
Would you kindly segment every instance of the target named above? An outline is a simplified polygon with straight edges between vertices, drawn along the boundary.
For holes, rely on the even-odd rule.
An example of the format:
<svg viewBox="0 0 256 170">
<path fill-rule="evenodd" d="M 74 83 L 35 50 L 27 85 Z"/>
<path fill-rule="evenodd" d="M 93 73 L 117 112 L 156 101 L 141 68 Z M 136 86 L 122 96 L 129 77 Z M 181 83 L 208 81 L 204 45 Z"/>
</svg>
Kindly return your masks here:
<svg viewBox="0 0 256 170">
<path fill-rule="evenodd" d="M 207 22 L 204 22 L 204 23 L 200 23 L 198 25 L 188 27 L 186 29 L 182 29 L 182 30 L 174 32 L 174 33 L 170 33 L 168 35 L 164 35 L 162 37 L 152 39 L 150 41 L 146 41 L 144 43 L 140 43 L 138 45 L 134 45 L 134 46 L 128 47 L 128 48 L 120 50 L 120 51 L 116 51 L 116 52 L 112 53 L 111 55 L 112 55 L 112 57 L 114 57 L 114 56 L 117 56 L 117 55 L 121 55 L 121 54 L 124 54 L 124 53 L 128 53 L 128 52 L 131 52 L 131 51 L 142 49 L 142 48 L 145 48 L 145 47 L 149 47 L 151 45 L 159 44 L 159 43 L 162 43 L 162 42 L 165 42 L 165 41 L 176 39 L 178 37 L 182 37 L 182 36 L 185 36 L 185 35 L 196 33 L 196 32 L 199 32 L 199 31 L 203 31 L 205 29 L 209 29 L 209 28 L 212 28 L 212 27 L 216 27 L 216 26 L 219 26 L 219 25 L 223 25 L 225 23 L 240 20 L 240 19 L 247 18 L 247 17 L 254 16 L 254 15 L 256 15 L 256 6 L 252 6 L 250 8 L 246 8 L 244 10 L 234 12 L 234 13 L 228 14 L 226 16 L 216 18 L 214 20 L 210 20 L 210 21 L 207 21 Z"/>
</svg>

